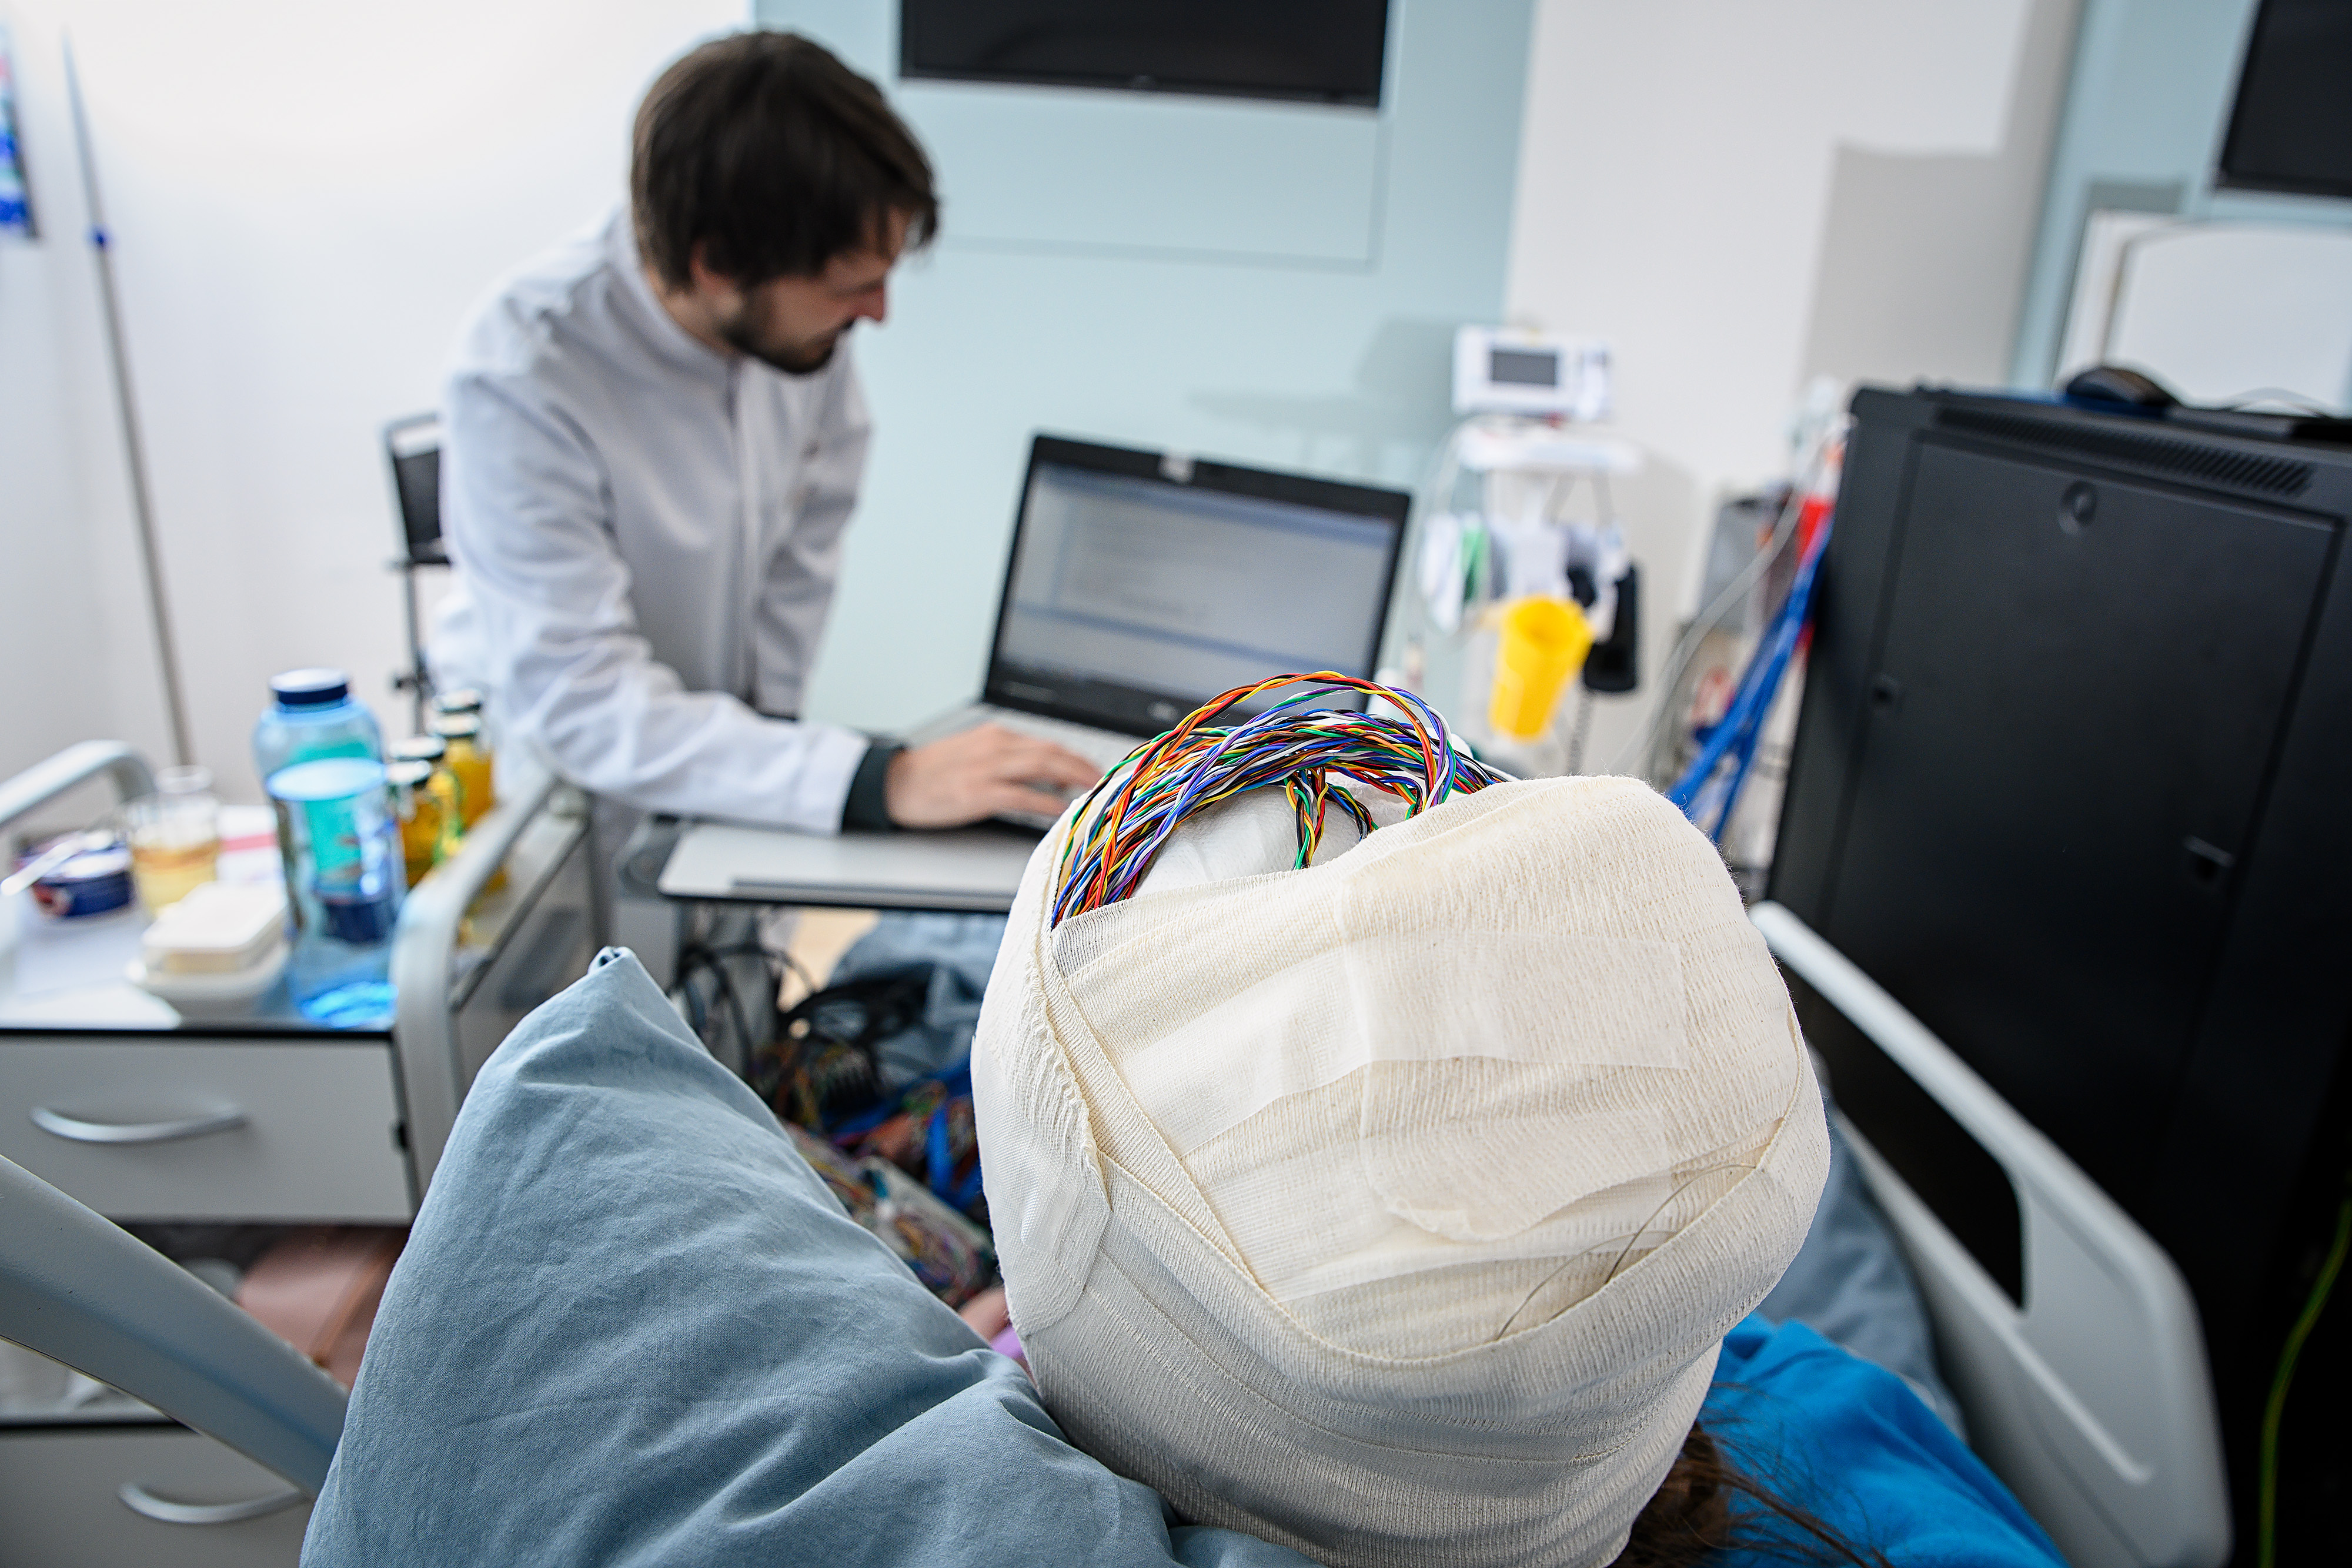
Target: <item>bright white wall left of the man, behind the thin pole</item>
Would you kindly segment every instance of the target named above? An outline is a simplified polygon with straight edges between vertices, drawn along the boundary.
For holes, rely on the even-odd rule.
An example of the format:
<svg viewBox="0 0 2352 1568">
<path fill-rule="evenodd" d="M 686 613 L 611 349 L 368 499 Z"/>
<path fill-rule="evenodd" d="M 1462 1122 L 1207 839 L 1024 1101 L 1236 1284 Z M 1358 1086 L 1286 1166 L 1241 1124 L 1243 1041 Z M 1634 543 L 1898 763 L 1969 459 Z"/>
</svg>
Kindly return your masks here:
<svg viewBox="0 0 2352 1568">
<path fill-rule="evenodd" d="M 61 28 L 115 235 L 198 759 L 256 799 L 247 731 L 273 670 L 346 665 L 405 724 L 381 425 L 433 407 L 466 308 L 503 268 L 619 200 L 654 71 L 743 16 L 741 0 L 16 0 L 45 240 L 0 252 L 0 771 L 108 731 L 167 752 Z"/>
</svg>

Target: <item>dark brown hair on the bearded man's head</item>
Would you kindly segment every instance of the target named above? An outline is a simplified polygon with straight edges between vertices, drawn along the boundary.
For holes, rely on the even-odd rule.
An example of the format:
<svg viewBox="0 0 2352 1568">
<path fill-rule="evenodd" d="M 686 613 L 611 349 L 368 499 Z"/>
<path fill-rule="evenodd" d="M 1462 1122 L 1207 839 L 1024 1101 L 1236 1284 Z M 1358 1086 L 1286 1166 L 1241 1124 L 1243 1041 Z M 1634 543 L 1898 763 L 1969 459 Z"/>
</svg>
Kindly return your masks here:
<svg viewBox="0 0 2352 1568">
<path fill-rule="evenodd" d="M 670 287 L 703 266 L 736 287 L 814 277 L 938 230 L 931 160 L 882 89 L 800 33 L 734 33 L 673 63 L 637 106 L 628 167 L 637 249 Z"/>
</svg>

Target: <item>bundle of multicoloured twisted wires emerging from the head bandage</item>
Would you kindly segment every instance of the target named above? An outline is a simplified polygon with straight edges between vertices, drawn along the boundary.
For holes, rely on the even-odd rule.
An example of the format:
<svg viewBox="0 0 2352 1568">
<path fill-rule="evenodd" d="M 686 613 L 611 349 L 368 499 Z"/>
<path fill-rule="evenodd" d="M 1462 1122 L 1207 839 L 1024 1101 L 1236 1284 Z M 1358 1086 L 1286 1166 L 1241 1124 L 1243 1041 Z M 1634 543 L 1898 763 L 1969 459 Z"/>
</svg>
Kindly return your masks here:
<svg viewBox="0 0 2352 1568">
<path fill-rule="evenodd" d="M 1303 686 L 1265 712 L 1230 726 L 1209 719 L 1275 686 Z M 1331 691 L 1362 691 L 1392 703 L 1402 719 L 1310 708 Z M 1054 919 L 1101 910 L 1131 896 L 1176 825 L 1195 811 L 1247 790 L 1282 788 L 1298 813 L 1298 858 L 1308 865 L 1322 844 L 1324 811 L 1336 804 L 1371 832 L 1371 816 L 1334 778 L 1385 790 L 1416 816 L 1449 795 L 1468 795 L 1505 776 L 1458 750 L 1444 719 L 1411 691 L 1317 670 L 1277 675 L 1235 686 L 1195 708 L 1176 729 L 1138 745 L 1094 785 L 1061 844 Z"/>
</svg>

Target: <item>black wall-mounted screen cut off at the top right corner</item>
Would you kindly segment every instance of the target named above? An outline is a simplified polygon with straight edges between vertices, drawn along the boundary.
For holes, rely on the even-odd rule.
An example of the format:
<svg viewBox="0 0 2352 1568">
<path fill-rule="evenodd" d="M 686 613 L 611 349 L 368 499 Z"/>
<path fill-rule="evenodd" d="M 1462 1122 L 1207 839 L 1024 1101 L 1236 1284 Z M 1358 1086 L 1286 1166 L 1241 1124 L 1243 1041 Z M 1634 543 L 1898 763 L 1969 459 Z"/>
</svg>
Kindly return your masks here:
<svg viewBox="0 0 2352 1568">
<path fill-rule="evenodd" d="M 2352 195 L 2352 5 L 2263 0 L 2220 150 L 2239 190 Z"/>
</svg>

